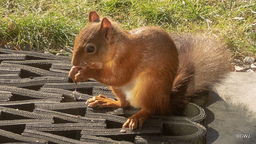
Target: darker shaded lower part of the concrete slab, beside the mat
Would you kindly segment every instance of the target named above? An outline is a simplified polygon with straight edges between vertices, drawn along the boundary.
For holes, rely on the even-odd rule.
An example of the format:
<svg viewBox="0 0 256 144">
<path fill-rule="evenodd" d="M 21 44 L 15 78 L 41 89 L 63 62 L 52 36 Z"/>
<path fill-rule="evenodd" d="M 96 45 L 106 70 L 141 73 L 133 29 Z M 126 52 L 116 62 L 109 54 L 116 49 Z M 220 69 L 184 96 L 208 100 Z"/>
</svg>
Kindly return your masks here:
<svg viewBox="0 0 256 144">
<path fill-rule="evenodd" d="M 216 92 L 210 91 L 203 108 L 206 112 L 207 144 L 256 143 L 256 120 L 245 106 L 227 104 Z M 240 138 L 236 137 L 237 134 Z"/>
</svg>

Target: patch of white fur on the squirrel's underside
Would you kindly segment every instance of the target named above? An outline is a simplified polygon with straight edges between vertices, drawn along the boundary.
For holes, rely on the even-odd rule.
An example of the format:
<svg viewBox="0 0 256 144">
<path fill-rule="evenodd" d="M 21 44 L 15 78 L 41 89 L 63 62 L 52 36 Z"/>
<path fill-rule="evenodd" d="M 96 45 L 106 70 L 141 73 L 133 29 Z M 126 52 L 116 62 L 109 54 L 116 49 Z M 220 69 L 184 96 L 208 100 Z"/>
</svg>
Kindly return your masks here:
<svg viewBox="0 0 256 144">
<path fill-rule="evenodd" d="M 134 95 L 132 94 L 132 91 L 134 90 L 134 87 L 137 85 L 139 79 L 134 79 L 125 86 L 122 87 L 122 93 L 125 95 L 126 100 L 131 102 L 133 100 Z M 136 104 L 133 102 L 133 107 L 138 107 Z"/>
</svg>

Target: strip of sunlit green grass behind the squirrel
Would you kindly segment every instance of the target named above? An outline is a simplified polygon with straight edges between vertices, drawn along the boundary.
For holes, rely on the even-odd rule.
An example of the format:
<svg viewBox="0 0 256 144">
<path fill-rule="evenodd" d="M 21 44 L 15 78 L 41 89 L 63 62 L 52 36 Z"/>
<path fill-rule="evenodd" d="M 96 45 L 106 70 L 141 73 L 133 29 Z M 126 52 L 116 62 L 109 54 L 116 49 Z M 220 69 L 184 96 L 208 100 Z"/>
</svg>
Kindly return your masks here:
<svg viewBox="0 0 256 144">
<path fill-rule="evenodd" d="M 124 29 L 206 33 L 224 40 L 232 56 L 256 55 L 255 0 L 0 0 L 0 40 L 22 50 L 66 50 L 90 10 Z"/>
</svg>

